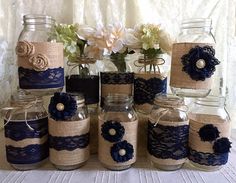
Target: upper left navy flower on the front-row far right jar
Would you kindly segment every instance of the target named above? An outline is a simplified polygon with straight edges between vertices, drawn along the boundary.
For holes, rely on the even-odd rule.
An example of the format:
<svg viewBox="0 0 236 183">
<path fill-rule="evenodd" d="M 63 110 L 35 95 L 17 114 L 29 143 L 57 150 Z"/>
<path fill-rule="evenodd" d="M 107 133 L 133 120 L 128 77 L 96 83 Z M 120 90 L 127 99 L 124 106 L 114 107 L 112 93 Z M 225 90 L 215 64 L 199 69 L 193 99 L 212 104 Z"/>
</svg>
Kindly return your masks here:
<svg viewBox="0 0 236 183">
<path fill-rule="evenodd" d="M 202 141 L 213 141 L 219 137 L 219 130 L 212 124 L 204 125 L 198 132 Z"/>
</svg>

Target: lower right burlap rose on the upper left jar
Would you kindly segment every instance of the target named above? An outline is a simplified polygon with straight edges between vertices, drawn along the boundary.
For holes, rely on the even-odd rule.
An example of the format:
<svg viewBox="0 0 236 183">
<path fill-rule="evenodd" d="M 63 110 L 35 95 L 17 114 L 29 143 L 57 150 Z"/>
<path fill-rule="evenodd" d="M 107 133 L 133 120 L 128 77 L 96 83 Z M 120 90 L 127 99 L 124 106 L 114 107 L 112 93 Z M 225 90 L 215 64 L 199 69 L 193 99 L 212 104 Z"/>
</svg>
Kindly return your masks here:
<svg viewBox="0 0 236 183">
<path fill-rule="evenodd" d="M 33 69 L 36 71 L 45 71 L 48 67 L 48 58 L 43 54 L 33 55 L 29 58 L 29 62 L 32 64 Z"/>
</svg>

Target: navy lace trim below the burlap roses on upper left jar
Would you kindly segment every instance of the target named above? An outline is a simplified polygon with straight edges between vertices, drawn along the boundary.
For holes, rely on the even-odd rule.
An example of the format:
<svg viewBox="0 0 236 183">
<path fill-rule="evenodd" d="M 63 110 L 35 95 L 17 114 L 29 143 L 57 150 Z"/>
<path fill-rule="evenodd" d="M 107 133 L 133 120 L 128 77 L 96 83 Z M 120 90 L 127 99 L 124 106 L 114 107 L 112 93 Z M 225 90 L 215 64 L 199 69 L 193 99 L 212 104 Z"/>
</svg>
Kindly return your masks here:
<svg viewBox="0 0 236 183">
<path fill-rule="evenodd" d="M 64 68 L 35 71 L 18 68 L 19 84 L 23 89 L 60 88 L 64 86 Z"/>
</svg>

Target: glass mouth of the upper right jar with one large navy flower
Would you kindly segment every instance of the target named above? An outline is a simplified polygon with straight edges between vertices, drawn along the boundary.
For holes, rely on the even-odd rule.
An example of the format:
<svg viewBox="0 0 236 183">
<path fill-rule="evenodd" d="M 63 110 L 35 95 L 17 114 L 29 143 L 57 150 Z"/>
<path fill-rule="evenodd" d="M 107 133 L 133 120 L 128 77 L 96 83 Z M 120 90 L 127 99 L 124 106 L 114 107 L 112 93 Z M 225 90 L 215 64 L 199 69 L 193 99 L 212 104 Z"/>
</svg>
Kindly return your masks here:
<svg viewBox="0 0 236 183">
<path fill-rule="evenodd" d="M 211 28 L 212 20 L 210 18 L 185 19 L 182 21 L 182 29 L 190 28 Z"/>
</svg>

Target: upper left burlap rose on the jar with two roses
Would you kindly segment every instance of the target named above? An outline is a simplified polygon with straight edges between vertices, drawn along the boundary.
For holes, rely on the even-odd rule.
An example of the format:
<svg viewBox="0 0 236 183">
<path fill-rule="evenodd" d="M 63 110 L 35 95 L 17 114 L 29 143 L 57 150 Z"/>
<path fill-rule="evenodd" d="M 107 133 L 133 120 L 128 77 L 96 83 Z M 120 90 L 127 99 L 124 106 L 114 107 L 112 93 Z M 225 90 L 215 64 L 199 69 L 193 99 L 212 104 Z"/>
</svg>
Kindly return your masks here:
<svg viewBox="0 0 236 183">
<path fill-rule="evenodd" d="M 16 46 L 16 54 L 21 57 L 33 55 L 35 52 L 34 45 L 27 41 L 19 41 Z"/>
</svg>

